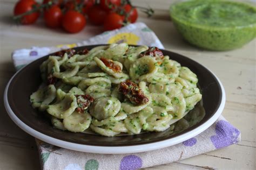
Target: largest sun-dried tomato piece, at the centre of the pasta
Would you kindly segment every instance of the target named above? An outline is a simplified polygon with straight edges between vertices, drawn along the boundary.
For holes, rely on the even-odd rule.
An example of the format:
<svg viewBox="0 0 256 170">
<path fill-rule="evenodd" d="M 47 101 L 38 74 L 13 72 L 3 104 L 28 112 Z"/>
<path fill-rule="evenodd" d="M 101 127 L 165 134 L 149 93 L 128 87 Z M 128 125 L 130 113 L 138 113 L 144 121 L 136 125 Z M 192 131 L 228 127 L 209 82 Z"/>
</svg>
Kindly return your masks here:
<svg viewBox="0 0 256 170">
<path fill-rule="evenodd" d="M 133 104 L 145 104 L 149 102 L 142 89 L 138 85 L 130 80 L 126 80 L 119 84 L 118 90 L 124 94 Z"/>
</svg>

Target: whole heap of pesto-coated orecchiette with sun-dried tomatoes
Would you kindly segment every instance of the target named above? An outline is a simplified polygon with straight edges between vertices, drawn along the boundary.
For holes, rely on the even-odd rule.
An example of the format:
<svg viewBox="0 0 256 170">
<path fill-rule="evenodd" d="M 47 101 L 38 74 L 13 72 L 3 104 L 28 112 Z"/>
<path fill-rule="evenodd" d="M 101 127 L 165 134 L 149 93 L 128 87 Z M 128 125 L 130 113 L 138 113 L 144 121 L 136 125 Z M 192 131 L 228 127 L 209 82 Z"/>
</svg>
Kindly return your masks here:
<svg viewBox="0 0 256 170">
<path fill-rule="evenodd" d="M 197 75 L 170 58 L 156 47 L 125 43 L 57 52 L 40 66 L 44 83 L 30 102 L 51 115 L 54 128 L 71 132 L 116 136 L 187 127 L 183 117 L 202 95 Z"/>
</svg>

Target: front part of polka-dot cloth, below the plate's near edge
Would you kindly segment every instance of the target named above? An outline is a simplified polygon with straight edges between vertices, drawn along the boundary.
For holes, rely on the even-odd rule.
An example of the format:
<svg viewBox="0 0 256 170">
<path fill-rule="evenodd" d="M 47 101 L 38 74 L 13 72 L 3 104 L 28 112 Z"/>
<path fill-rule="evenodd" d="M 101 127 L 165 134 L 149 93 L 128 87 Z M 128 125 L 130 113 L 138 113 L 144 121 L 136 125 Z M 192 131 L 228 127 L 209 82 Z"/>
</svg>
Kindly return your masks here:
<svg viewBox="0 0 256 170">
<path fill-rule="evenodd" d="M 42 169 L 119 169 L 134 170 L 193 157 L 241 140 L 240 132 L 223 116 L 204 132 L 183 143 L 160 150 L 133 154 L 96 154 L 60 148 L 36 139 Z"/>
</svg>

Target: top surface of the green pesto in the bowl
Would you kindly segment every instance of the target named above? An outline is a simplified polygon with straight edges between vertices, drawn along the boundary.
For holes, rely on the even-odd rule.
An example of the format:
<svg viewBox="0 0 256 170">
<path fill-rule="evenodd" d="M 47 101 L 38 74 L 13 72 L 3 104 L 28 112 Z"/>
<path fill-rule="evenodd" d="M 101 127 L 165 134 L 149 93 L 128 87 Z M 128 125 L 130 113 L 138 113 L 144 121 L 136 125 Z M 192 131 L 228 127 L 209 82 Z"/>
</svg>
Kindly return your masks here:
<svg viewBox="0 0 256 170">
<path fill-rule="evenodd" d="M 187 24 L 233 27 L 256 24 L 253 6 L 225 1 L 188 1 L 172 7 L 172 17 Z"/>
</svg>

